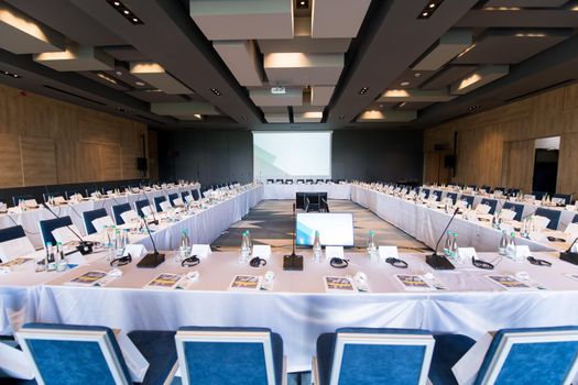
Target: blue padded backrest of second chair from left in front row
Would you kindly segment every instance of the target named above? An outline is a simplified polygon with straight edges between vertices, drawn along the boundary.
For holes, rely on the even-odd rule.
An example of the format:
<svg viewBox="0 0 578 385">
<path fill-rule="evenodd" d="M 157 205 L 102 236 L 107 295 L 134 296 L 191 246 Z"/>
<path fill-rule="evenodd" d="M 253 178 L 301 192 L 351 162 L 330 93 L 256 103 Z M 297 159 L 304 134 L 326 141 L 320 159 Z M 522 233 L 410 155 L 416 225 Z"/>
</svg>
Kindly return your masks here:
<svg viewBox="0 0 578 385">
<path fill-rule="evenodd" d="M 283 340 L 266 328 L 183 327 L 179 331 L 240 331 L 271 333 L 275 384 L 283 380 Z M 223 348 L 227 344 L 227 348 Z M 197 385 L 231 384 L 242 378 L 246 384 L 266 384 L 261 343 L 195 342 L 185 343 L 190 376 Z M 218 363 L 210 365 L 208 363 Z"/>
</svg>

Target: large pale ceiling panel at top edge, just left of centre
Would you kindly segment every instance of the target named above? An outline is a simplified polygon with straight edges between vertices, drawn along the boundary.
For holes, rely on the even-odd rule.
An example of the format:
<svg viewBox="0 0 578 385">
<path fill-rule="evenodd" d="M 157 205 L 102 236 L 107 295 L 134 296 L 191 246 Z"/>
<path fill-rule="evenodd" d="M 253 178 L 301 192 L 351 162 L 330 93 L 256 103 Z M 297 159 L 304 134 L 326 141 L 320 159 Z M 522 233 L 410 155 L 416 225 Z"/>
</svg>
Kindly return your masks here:
<svg viewBox="0 0 578 385">
<path fill-rule="evenodd" d="M 189 4 L 190 16 L 211 41 L 293 38 L 292 1 L 190 0 Z"/>
</svg>

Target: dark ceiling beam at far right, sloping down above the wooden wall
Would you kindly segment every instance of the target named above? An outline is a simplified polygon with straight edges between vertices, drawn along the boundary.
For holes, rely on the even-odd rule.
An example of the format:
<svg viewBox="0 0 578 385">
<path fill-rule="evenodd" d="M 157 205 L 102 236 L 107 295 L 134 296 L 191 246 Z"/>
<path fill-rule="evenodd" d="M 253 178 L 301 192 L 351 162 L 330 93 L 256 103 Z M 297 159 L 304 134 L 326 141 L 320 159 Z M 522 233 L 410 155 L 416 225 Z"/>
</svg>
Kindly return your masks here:
<svg viewBox="0 0 578 385">
<path fill-rule="evenodd" d="M 482 112 L 536 91 L 578 79 L 578 35 L 514 65 L 510 74 L 452 101 L 432 106 L 418 116 L 418 127 L 430 128 L 468 113 L 471 106 Z"/>
</svg>

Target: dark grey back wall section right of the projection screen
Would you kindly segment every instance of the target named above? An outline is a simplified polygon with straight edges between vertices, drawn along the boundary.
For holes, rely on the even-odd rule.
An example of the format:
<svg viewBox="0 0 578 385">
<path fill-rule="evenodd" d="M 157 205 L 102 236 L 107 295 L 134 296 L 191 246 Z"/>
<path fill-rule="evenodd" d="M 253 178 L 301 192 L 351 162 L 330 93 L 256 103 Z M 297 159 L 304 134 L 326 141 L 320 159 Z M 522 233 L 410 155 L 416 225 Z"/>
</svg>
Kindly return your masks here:
<svg viewBox="0 0 578 385">
<path fill-rule="evenodd" d="M 423 133 L 416 130 L 334 131 L 334 179 L 421 182 Z"/>
</svg>

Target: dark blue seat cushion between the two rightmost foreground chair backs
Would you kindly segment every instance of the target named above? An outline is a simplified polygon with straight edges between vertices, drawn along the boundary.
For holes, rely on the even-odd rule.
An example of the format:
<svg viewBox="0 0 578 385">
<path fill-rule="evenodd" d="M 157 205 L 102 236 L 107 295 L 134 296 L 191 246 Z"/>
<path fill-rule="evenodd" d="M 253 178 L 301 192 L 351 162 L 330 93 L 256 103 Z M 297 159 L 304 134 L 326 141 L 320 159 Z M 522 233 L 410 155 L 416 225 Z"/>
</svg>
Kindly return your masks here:
<svg viewBox="0 0 578 385">
<path fill-rule="evenodd" d="M 436 385 L 457 385 L 451 367 L 473 346 L 476 341 L 461 334 L 438 334 L 434 336 L 434 339 L 436 344 L 429 367 L 429 380 Z"/>
</svg>

